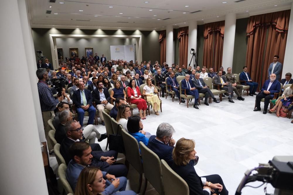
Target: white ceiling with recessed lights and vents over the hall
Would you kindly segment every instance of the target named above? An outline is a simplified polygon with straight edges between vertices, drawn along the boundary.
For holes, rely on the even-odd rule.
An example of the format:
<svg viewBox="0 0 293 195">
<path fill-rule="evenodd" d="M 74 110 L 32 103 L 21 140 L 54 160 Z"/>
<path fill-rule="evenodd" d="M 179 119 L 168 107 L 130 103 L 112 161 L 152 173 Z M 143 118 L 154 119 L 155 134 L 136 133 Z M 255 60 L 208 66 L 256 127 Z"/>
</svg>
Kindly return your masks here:
<svg viewBox="0 0 293 195">
<path fill-rule="evenodd" d="M 225 15 L 228 13 L 236 13 L 237 19 L 246 18 L 290 9 L 293 2 L 293 0 L 235 1 L 237 0 L 56 0 L 55 3 L 50 3 L 50 0 L 27 0 L 26 2 L 32 28 L 114 30 L 117 28 L 163 30 L 167 25 L 178 28 L 188 26 L 188 22 L 194 20 L 197 20 L 197 24 L 225 20 Z"/>
</svg>

